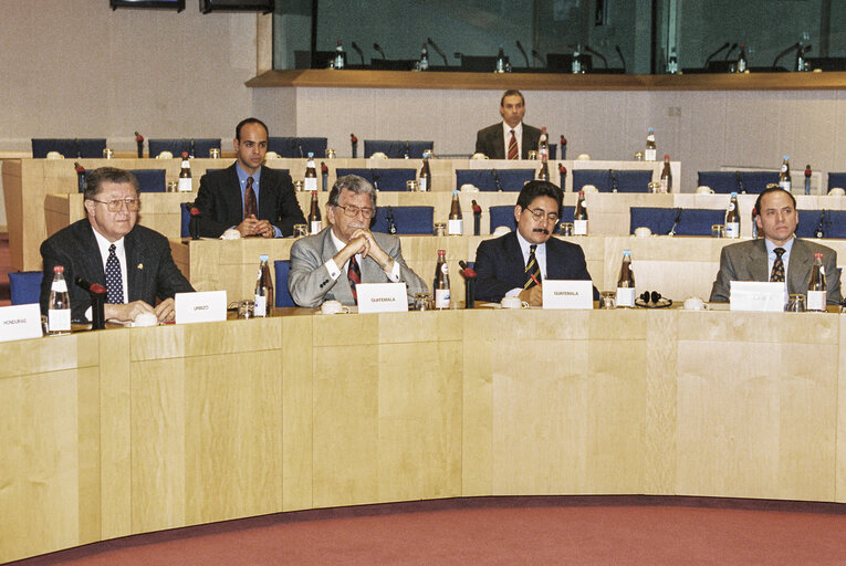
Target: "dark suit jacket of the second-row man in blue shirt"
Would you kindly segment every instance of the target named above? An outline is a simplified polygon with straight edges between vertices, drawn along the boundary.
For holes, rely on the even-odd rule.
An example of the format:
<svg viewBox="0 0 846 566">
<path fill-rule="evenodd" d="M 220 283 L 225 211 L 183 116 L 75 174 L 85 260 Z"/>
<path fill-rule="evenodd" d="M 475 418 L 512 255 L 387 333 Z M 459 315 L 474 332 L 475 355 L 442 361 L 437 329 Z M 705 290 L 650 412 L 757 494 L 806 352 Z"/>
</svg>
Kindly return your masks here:
<svg viewBox="0 0 846 566">
<path fill-rule="evenodd" d="M 200 178 L 196 205 L 200 209 L 200 235 L 218 238 L 228 228 L 241 223 L 243 200 L 236 164 Z M 259 186 L 259 220 L 269 221 L 282 231 L 282 235 L 293 234 L 294 224 L 305 223 L 291 176 L 263 165 Z"/>
</svg>

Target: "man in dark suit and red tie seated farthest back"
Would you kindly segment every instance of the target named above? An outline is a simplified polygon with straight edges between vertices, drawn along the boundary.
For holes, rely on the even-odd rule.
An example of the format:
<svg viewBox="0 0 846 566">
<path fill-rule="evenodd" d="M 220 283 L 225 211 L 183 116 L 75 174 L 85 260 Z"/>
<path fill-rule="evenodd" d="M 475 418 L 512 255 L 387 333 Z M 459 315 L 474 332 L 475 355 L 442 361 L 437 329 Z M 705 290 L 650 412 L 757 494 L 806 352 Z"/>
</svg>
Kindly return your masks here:
<svg viewBox="0 0 846 566">
<path fill-rule="evenodd" d="M 541 130 L 523 124 L 525 99 L 520 91 L 505 91 L 500 98 L 502 122 L 480 129 L 476 136 L 476 153 L 491 159 L 529 159 L 537 149 Z"/>
</svg>

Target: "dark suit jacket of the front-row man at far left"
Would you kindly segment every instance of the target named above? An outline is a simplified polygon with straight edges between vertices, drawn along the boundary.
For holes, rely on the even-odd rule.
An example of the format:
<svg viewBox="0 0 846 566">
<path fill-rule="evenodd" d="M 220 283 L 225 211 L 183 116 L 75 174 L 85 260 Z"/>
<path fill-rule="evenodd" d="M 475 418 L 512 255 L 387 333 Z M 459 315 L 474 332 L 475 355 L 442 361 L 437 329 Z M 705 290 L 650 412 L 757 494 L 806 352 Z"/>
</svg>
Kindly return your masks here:
<svg viewBox="0 0 846 566">
<path fill-rule="evenodd" d="M 167 238 L 136 224 L 124 237 L 126 251 L 126 279 L 129 291 L 128 301 L 144 301 L 155 306 L 156 297 L 170 298 L 176 293 L 192 292 L 179 268 L 170 255 Z M 41 244 L 44 262 L 44 276 L 41 281 L 41 312 L 46 313 L 50 286 L 53 283 L 53 266 L 64 266 L 64 279 L 71 298 L 71 318 L 83 321 L 85 310 L 91 306 L 87 291 L 74 283 L 74 277 L 82 277 L 88 283 L 106 286 L 103 259 L 100 255 L 94 229 L 87 219 L 79 220 L 58 231 Z"/>
</svg>

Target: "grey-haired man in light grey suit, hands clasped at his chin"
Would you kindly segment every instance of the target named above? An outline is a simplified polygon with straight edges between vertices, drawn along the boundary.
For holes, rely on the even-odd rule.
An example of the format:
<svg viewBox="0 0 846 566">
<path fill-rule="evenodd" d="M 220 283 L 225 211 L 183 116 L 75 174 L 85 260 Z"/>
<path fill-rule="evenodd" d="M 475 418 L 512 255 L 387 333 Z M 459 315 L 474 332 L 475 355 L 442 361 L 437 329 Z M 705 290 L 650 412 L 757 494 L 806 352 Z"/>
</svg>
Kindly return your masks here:
<svg viewBox="0 0 846 566">
<path fill-rule="evenodd" d="M 370 232 L 376 191 L 355 175 L 340 177 L 326 203 L 327 228 L 294 242 L 288 289 L 300 306 L 356 304 L 355 283 L 406 283 L 409 300 L 427 291 L 406 265 L 399 239 Z"/>
</svg>

